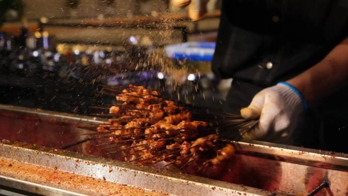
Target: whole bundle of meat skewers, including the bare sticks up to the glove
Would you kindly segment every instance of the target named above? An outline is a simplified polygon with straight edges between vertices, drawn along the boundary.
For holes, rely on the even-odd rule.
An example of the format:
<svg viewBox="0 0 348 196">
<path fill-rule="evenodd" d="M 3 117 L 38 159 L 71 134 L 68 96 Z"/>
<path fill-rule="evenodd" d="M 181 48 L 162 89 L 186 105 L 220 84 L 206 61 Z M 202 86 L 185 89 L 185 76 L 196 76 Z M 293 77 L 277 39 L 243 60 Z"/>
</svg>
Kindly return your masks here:
<svg viewBox="0 0 348 196">
<path fill-rule="evenodd" d="M 101 93 L 115 96 L 119 104 L 94 107 L 101 110 L 94 115 L 109 119 L 96 125 L 88 140 L 104 138 L 97 150 L 140 165 L 165 162 L 196 173 L 218 171 L 235 154 L 231 141 L 257 124 L 239 115 L 166 100 L 141 86 L 105 86 Z"/>
</svg>

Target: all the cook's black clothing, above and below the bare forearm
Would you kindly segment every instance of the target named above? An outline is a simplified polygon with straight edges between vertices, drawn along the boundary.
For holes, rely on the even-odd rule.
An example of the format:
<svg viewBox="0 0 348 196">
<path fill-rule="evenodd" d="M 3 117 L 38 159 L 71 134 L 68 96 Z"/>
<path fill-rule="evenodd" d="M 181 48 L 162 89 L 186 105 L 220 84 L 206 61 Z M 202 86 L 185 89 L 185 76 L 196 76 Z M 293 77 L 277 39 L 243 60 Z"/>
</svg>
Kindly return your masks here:
<svg viewBox="0 0 348 196">
<path fill-rule="evenodd" d="M 348 0 L 223 0 L 212 67 L 234 79 L 224 108 L 239 113 L 257 92 L 314 66 L 346 37 Z M 347 88 L 311 105 L 297 145 L 345 152 L 346 111 Z"/>
</svg>

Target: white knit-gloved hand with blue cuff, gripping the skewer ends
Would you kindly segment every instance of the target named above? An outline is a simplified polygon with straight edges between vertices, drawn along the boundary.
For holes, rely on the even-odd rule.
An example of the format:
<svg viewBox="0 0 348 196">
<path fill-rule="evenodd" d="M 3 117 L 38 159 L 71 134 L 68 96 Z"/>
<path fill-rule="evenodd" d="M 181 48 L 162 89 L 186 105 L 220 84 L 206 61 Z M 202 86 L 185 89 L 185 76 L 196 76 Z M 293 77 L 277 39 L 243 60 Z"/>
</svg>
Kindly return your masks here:
<svg viewBox="0 0 348 196">
<path fill-rule="evenodd" d="M 306 107 L 301 93 L 286 82 L 264 89 L 254 96 L 248 107 L 241 109 L 243 118 L 259 118 L 259 123 L 243 137 L 287 142 L 297 126 L 299 115 Z"/>
</svg>

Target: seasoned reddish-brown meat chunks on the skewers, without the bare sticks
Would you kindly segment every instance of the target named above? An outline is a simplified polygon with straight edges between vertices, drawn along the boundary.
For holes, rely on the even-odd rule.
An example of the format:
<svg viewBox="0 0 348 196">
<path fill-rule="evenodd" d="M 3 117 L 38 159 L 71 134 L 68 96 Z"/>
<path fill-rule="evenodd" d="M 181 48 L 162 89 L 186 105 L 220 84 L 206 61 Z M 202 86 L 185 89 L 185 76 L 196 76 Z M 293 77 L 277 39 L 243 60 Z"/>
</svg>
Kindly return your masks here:
<svg viewBox="0 0 348 196">
<path fill-rule="evenodd" d="M 180 168 L 218 171 L 235 154 L 234 146 L 219 144 L 208 123 L 194 120 L 191 111 L 165 100 L 157 91 L 130 85 L 116 96 L 106 125 L 97 131 L 109 137 L 111 152 L 124 161 L 154 164 L 166 161 Z M 209 168 L 208 168 L 209 167 Z"/>
</svg>

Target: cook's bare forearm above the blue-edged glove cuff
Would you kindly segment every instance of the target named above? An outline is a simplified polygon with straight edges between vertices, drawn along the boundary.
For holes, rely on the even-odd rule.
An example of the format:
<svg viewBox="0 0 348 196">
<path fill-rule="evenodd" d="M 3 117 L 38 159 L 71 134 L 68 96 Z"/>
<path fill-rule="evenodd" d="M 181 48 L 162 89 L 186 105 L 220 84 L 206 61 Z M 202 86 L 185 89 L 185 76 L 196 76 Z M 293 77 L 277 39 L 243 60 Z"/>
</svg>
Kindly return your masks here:
<svg viewBox="0 0 348 196">
<path fill-rule="evenodd" d="M 325 97 L 348 84 L 348 38 L 338 44 L 321 62 L 289 79 L 308 103 Z"/>
</svg>

